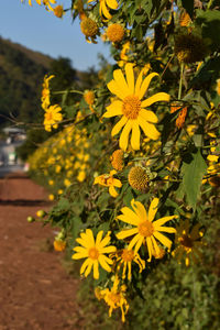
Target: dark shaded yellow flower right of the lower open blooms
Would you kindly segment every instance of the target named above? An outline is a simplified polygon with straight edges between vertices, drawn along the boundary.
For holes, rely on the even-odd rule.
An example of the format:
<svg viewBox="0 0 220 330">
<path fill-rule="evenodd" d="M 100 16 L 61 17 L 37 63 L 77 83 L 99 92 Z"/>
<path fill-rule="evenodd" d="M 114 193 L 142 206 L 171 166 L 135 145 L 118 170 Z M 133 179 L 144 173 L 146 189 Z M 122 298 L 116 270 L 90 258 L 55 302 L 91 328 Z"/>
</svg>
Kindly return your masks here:
<svg viewBox="0 0 220 330">
<path fill-rule="evenodd" d="M 200 241 L 204 233 L 200 231 L 200 224 L 195 224 L 191 230 L 189 230 L 189 220 L 180 221 L 179 226 L 176 228 L 175 243 L 176 249 L 173 251 L 173 255 L 180 261 L 185 258 L 186 266 L 189 265 L 189 258 L 196 263 L 201 258 L 201 253 L 199 246 L 204 245 Z"/>
</svg>

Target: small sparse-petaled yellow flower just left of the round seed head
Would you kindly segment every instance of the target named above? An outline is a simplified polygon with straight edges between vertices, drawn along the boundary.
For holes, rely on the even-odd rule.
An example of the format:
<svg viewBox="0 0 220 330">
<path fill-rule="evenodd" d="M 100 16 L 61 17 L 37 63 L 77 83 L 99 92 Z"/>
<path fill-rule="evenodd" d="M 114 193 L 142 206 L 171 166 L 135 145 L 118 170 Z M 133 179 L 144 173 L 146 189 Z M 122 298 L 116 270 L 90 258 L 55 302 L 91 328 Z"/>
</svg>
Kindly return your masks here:
<svg viewBox="0 0 220 330">
<path fill-rule="evenodd" d="M 102 174 L 100 176 L 97 176 L 94 180 L 94 185 L 101 185 L 105 187 L 109 187 L 109 194 L 112 197 L 117 197 L 119 194 L 117 193 L 116 188 L 121 188 L 122 183 L 119 179 L 113 178 L 113 175 L 116 174 L 116 170 L 111 170 L 110 174 Z"/>
</svg>

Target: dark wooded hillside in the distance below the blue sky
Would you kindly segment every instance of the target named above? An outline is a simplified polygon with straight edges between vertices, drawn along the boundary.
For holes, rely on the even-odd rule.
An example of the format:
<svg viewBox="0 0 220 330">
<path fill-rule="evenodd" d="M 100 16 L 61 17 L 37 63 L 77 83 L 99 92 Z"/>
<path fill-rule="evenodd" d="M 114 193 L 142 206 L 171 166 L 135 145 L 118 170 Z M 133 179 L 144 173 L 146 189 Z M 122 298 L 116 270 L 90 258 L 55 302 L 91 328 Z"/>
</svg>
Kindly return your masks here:
<svg viewBox="0 0 220 330">
<path fill-rule="evenodd" d="M 21 122 L 42 121 L 43 77 L 53 58 L 0 37 L 0 125 L 11 116 Z"/>
</svg>

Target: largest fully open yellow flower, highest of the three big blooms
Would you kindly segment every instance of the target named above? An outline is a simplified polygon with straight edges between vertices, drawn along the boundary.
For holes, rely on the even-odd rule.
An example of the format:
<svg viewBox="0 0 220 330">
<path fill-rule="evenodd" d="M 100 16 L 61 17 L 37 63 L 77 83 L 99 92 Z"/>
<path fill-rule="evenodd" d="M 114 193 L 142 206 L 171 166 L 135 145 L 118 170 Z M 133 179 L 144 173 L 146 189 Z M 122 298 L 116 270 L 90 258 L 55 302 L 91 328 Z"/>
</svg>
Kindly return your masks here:
<svg viewBox="0 0 220 330">
<path fill-rule="evenodd" d="M 107 112 L 103 117 L 111 118 L 122 116 L 120 121 L 114 125 L 111 135 L 114 136 L 123 128 L 119 146 L 125 151 L 129 134 L 132 131 L 131 146 L 133 150 L 140 150 L 140 127 L 150 139 L 157 140 L 160 138 L 160 132 L 155 128 L 155 123 L 158 122 L 158 119 L 153 111 L 146 110 L 145 108 L 158 101 L 169 101 L 169 95 L 166 92 L 157 92 L 141 101 L 152 78 L 158 76 L 158 74 L 152 73 L 143 80 L 143 73 L 141 72 L 136 84 L 134 84 L 133 64 L 129 63 L 125 65 L 125 76 L 127 80 L 121 69 L 113 72 L 113 79 L 107 86 L 120 100 L 116 100 L 107 107 Z"/>
</svg>

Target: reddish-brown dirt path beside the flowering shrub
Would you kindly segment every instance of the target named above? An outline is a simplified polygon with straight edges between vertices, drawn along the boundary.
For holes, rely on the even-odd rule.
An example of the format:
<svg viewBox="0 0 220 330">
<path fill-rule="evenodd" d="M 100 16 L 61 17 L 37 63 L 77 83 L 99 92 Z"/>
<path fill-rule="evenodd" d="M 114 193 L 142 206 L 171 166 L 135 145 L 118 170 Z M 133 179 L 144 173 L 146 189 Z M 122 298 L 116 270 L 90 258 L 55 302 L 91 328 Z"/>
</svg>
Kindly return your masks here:
<svg viewBox="0 0 220 330">
<path fill-rule="evenodd" d="M 48 209 L 42 187 L 23 176 L 0 179 L 0 330 L 80 329 L 78 283 L 58 252 L 42 249 L 54 232 L 28 216 Z"/>
</svg>

